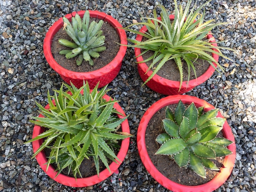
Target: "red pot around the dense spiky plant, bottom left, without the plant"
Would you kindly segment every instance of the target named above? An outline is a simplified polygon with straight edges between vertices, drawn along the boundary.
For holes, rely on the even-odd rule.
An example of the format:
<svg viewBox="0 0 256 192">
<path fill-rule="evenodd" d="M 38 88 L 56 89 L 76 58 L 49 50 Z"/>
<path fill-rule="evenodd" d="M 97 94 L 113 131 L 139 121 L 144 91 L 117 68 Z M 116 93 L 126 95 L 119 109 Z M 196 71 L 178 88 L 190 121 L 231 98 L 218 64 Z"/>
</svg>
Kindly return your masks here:
<svg viewBox="0 0 256 192">
<path fill-rule="evenodd" d="M 105 98 L 106 100 L 111 99 L 107 95 L 103 96 L 103 98 Z M 53 100 L 53 103 L 55 104 L 54 100 Z M 114 108 L 118 112 L 120 112 L 121 114 L 123 114 L 125 116 L 123 109 L 121 108 L 121 106 L 118 103 L 114 103 Z M 45 109 L 49 109 L 49 105 L 47 105 L 45 107 Z M 43 117 L 43 115 L 41 115 L 41 114 L 39 116 Z M 124 118 L 124 116 L 121 116 L 121 115 L 117 115 L 117 116 L 119 118 Z M 130 128 L 129 128 L 127 119 L 125 121 L 123 121 L 123 123 L 121 124 L 121 129 L 122 129 L 122 132 L 130 133 Z M 38 136 L 39 134 L 41 134 L 43 132 L 44 132 L 44 127 L 35 125 L 32 138 L 35 138 L 36 136 Z M 95 185 L 95 184 L 105 180 L 106 178 L 111 176 L 118 169 L 118 167 L 124 161 L 124 158 L 128 152 L 129 142 L 130 142 L 130 138 L 125 138 L 124 140 L 122 140 L 121 148 L 117 154 L 117 157 L 120 161 L 117 161 L 119 163 L 112 162 L 109 165 L 111 173 L 106 168 L 105 170 L 103 170 L 102 172 L 99 173 L 99 176 L 94 175 L 94 176 L 90 176 L 90 177 L 86 177 L 86 178 L 77 178 L 77 179 L 75 179 L 74 177 L 66 176 L 64 174 L 59 174 L 58 176 L 56 176 L 58 172 L 55 171 L 55 168 L 52 165 L 49 165 L 48 170 L 46 170 L 47 169 L 46 164 L 47 164 L 48 159 L 47 159 L 44 151 L 41 151 L 38 155 L 36 155 L 36 160 L 38 161 L 38 164 L 43 169 L 43 171 L 49 177 L 54 179 L 54 181 L 57 181 L 58 183 L 61 183 L 63 185 L 67 185 L 67 186 L 71 186 L 71 187 L 87 187 L 87 186 Z M 36 150 L 38 150 L 38 148 L 40 147 L 40 145 L 42 145 L 42 143 L 43 143 L 43 139 L 36 140 L 36 141 L 32 142 L 34 152 L 36 152 Z"/>
</svg>

